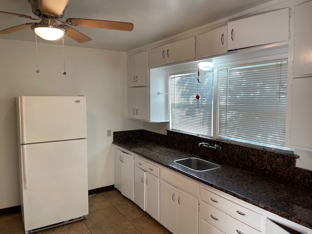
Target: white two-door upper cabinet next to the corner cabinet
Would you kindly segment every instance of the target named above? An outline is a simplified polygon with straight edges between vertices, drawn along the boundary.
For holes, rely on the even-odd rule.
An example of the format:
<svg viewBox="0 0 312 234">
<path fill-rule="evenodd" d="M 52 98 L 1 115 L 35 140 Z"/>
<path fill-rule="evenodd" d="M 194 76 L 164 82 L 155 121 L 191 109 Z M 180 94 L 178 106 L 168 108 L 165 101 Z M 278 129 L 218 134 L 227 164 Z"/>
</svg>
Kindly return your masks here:
<svg viewBox="0 0 312 234">
<path fill-rule="evenodd" d="M 179 40 L 149 51 L 149 66 L 195 59 L 195 37 Z"/>
</svg>

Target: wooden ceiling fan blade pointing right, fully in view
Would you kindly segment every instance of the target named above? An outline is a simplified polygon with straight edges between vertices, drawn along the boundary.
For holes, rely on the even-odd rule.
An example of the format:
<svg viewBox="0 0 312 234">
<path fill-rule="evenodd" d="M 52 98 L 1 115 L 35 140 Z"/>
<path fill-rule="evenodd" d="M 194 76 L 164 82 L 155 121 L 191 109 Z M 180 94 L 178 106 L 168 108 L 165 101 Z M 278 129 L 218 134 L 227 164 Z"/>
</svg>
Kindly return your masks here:
<svg viewBox="0 0 312 234">
<path fill-rule="evenodd" d="M 75 19 L 69 18 L 66 22 L 70 25 L 93 28 L 106 28 L 123 31 L 132 31 L 133 23 L 117 22 L 108 20 L 89 20 L 89 19 Z"/>
</svg>

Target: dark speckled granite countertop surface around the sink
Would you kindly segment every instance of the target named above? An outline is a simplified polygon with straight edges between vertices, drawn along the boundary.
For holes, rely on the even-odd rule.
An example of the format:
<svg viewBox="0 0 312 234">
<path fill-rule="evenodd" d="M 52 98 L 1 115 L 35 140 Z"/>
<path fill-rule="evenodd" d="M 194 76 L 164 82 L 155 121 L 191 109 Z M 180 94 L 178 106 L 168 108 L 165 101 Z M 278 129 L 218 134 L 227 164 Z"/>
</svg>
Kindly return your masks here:
<svg viewBox="0 0 312 234">
<path fill-rule="evenodd" d="M 196 172 L 176 164 L 176 159 L 194 155 L 146 140 L 114 141 L 113 144 L 139 156 L 233 195 L 250 204 L 312 229 L 312 193 L 263 178 L 227 165 Z"/>
</svg>

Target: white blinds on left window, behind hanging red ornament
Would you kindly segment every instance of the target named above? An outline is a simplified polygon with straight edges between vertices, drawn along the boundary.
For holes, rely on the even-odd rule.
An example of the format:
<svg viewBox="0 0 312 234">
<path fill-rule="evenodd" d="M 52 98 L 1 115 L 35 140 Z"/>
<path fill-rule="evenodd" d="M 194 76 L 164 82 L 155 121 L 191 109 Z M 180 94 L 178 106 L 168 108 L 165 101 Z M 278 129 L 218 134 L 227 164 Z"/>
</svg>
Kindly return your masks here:
<svg viewBox="0 0 312 234">
<path fill-rule="evenodd" d="M 197 82 L 197 72 L 170 76 L 172 130 L 212 136 L 213 74 L 212 71 L 200 72 L 200 83 Z"/>
</svg>

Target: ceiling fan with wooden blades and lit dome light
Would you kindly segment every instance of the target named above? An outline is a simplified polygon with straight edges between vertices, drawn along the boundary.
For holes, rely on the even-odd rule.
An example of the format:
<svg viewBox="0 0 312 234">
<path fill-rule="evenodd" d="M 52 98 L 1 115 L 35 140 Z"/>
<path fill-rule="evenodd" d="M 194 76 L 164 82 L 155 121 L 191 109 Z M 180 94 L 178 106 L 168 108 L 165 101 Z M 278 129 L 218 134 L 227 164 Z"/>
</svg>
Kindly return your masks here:
<svg viewBox="0 0 312 234">
<path fill-rule="evenodd" d="M 30 20 L 40 20 L 36 23 L 24 23 L 14 27 L 0 30 L 0 34 L 10 34 L 16 31 L 30 27 L 35 33 L 47 40 L 56 40 L 66 34 L 71 39 L 78 42 L 87 42 L 91 38 L 80 33 L 71 26 L 93 27 L 104 29 L 115 29 L 123 31 L 132 31 L 133 24 L 129 22 L 117 22 L 108 20 L 91 20 L 91 19 L 77 19 L 69 18 L 66 21 L 60 20 L 64 16 L 64 9 L 69 0 L 28 0 L 33 14 L 37 18 L 31 16 L 20 15 L 16 13 L 0 11 L 1 14 L 14 15 Z"/>
</svg>

